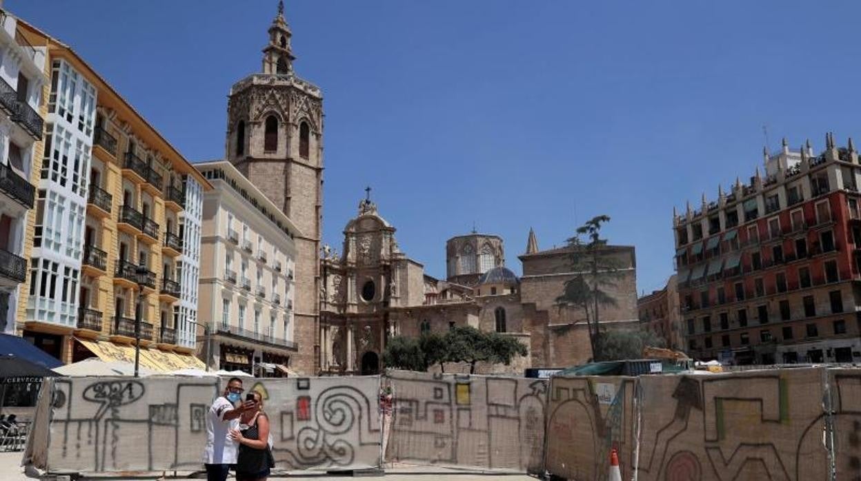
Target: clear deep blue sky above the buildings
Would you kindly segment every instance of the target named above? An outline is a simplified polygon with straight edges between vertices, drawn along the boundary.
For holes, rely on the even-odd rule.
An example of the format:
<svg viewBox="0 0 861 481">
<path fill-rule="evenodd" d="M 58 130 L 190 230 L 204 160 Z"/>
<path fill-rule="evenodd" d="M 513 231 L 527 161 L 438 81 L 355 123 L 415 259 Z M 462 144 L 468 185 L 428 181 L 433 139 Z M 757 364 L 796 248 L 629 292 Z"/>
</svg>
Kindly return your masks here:
<svg viewBox="0 0 861 481">
<path fill-rule="evenodd" d="M 240 6 L 241 5 L 241 6 Z M 6 0 L 69 43 L 189 158 L 224 154 L 226 95 L 259 71 L 275 0 Z M 786 136 L 856 135 L 861 3 L 288 0 L 295 69 L 325 95 L 325 241 L 374 188 L 400 246 L 606 213 L 642 291 L 672 274 L 672 207 L 715 198 Z M 857 145 L 857 144 L 856 144 Z"/>
</svg>

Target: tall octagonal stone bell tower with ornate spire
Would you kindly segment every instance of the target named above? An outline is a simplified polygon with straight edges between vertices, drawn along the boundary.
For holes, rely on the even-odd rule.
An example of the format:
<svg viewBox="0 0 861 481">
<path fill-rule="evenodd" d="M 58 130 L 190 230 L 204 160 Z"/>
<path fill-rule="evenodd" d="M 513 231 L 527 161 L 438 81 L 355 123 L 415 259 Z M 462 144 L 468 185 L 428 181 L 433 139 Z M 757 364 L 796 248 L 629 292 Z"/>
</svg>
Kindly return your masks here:
<svg viewBox="0 0 861 481">
<path fill-rule="evenodd" d="M 319 372 L 319 241 L 323 211 L 323 95 L 293 70 L 284 4 L 268 29 L 263 73 L 233 84 L 227 102 L 226 159 L 300 229 L 294 235 L 291 367 Z"/>
</svg>

